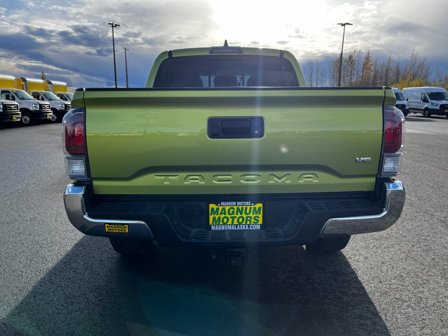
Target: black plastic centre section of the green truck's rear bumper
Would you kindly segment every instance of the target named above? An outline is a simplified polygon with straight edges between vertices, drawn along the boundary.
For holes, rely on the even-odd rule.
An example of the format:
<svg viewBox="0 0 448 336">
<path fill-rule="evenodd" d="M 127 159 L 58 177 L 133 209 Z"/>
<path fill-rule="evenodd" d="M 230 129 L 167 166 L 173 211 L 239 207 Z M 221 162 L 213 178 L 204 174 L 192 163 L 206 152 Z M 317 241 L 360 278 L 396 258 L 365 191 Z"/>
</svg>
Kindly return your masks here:
<svg viewBox="0 0 448 336">
<path fill-rule="evenodd" d="M 377 215 L 381 200 L 370 193 L 179 196 L 97 196 L 86 202 L 86 213 L 102 220 L 145 222 L 161 246 L 278 246 L 311 244 L 327 220 Z M 210 230 L 208 204 L 212 199 L 263 202 L 263 229 Z M 202 209 L 199 217 L 185 216 L 185 208 Z M 129 228 L 131 233 L 131 228 Z M 107 236 L 107 235 L 106 235 Z"/>
</svg>

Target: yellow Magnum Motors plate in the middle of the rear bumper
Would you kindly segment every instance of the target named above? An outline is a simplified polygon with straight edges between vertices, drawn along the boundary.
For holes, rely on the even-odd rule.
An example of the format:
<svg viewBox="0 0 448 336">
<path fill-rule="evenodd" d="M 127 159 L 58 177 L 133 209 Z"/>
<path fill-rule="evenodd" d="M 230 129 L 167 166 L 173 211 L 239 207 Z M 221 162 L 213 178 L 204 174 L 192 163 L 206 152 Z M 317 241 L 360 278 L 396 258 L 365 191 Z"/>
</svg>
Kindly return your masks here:
<svg viewBox="0 0 448 336">
<path fill-rule="evenodd" d="M 263 203 L 229 201 L 209 204 L 211 230 L 260 230 L 263 228 Z"/>
</svg>

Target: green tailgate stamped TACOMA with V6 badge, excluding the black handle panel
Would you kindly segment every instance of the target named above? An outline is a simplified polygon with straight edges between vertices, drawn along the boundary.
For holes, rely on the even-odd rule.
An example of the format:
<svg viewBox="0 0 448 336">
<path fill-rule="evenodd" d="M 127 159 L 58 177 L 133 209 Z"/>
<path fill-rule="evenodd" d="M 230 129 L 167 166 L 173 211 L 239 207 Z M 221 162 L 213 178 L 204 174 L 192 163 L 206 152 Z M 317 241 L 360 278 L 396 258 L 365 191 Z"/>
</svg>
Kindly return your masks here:
<svg viewBox="0 0 448 336">
<path fill-rule="evenodd" d="M 384 97 L 379 87 L 86 89 L 94 192 L 374 190 Z M 213 117 L 261 117 L 264 131 L 259 138 L 210 138 Z"/>
</svg>

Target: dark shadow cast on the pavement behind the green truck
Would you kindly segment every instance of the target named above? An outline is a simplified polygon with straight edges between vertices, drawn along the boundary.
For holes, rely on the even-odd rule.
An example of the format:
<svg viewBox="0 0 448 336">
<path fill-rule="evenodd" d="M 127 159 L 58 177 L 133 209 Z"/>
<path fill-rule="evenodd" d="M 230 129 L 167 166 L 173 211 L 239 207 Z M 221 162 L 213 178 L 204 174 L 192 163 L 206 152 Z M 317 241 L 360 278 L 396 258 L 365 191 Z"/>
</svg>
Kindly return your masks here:
<svg viewBox="0 0 448 336">
<path fill-rule="evenodd" d="M 4 318 L 1 335 L 389 335 L 343 253 L 207 250 L 123 258 L 83 237 Z"/>
</svg>

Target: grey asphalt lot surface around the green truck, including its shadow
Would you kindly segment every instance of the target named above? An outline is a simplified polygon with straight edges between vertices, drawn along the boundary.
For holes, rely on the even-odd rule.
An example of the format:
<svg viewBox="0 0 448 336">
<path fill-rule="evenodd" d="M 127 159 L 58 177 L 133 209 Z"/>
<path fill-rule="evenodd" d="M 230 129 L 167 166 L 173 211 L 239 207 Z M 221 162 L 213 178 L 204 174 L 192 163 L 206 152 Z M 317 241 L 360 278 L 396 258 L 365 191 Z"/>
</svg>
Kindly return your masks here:
<svg viewBox="0 0 448 336">
<path fill-rule="evenodd" d="M 134 260 L 67 220 L 60 124 L 0 129 L 0 335 L 448 335 L 448 118 L 406 119 L 401 219 L 342 252 Z"/>
</svg>

